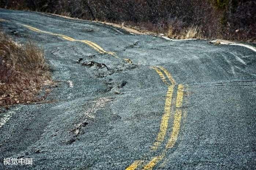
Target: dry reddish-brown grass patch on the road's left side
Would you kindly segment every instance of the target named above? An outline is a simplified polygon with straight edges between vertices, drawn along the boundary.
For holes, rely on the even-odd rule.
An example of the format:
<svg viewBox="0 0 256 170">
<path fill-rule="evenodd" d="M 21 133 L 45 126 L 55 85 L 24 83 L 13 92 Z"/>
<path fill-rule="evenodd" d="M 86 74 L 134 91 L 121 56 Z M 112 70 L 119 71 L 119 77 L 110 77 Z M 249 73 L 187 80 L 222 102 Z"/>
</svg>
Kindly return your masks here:
<svg viewBox="0 0 256 170">
<path fill-rule="evenodd" d="M 50 82 L 42 49 L 17 44 L 0 32 L 0 106 L 41 100 L 38 92 Z"/>
</svg>

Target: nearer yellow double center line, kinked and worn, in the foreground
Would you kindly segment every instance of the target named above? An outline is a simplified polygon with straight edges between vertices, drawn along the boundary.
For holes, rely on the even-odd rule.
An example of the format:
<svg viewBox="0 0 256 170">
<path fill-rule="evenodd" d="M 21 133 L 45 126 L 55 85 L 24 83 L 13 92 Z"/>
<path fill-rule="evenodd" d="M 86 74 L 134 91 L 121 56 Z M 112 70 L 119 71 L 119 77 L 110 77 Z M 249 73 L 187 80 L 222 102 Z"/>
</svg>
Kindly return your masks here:
<svg viewBox="0 0 256 170">
<path fill-rule="evenodd" d="M 156 151 L 157 148 L 162 144 L 166 137 L 166 132 L 168 128 L 168 122 L 170 119 L 171 115 L 171 103 L 172 103 L 172 94 L 174 92 L 174 87 L 176 85 L 175 80 L 172 78 L 171 74 L 165 69 L 164 67 L 161 66 L 153 66 L 153 68 L 160 76 L 162 79 L 163 83 L 168 86 L 168 90 L 166 93 L 166 101 L 164 105 L 164 114 L 162 116 L 162 120 L 160 123 L 160 128 L 158 135 L 156 137 L 155 142 L 153 143 L 151 150 Z M 167 77 L 167 78 L 166 78 Z M 160 152 L 159 155 L 154 156 L 146 165 L 142 167 L 143 170 L 152 170 L 153 167 L 157 165 L 157 163 L 160 162 L 166 155 L 167 151 L 174 147 L 178 135 L 179 135 L 179 130 L 181 126 L 181 117 L 182 117 L 182 100 L 183 100 L 183 88 L 184 86 L 182 84 L 178 84 L 178 90 L 177 90 L 177 98 L 176 98 L 176 109 L 175 109 L 175 114 L 174 114 L 174 121 L 172 124 L 172 132 L 171 135 L 166 143 L 165 148 L 163 149 L 162 152 Z M 126 170 L 136 170 L 138 166 L 144 164 L 145 161 L 143 160 L 136 160 L 134 161 L 130 166 L 126 168 Z"/>
</svg>

